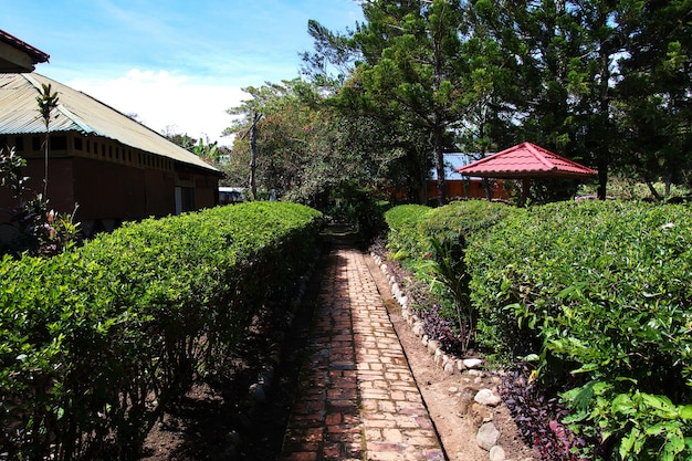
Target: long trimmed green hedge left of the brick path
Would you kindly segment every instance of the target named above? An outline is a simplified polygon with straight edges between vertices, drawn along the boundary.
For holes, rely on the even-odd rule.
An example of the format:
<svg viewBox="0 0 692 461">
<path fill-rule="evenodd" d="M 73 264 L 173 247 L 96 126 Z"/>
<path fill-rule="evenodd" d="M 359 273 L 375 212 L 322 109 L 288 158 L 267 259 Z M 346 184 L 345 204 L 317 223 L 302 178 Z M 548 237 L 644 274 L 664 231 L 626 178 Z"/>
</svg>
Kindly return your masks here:
<svg viewBox="0 0 692 461">
<path fill-rule="evenodd" d="M 321 214 L 252 202 L 0 262 L 0 458 L 127 459 L 315 254 Z"/>
</svg>

